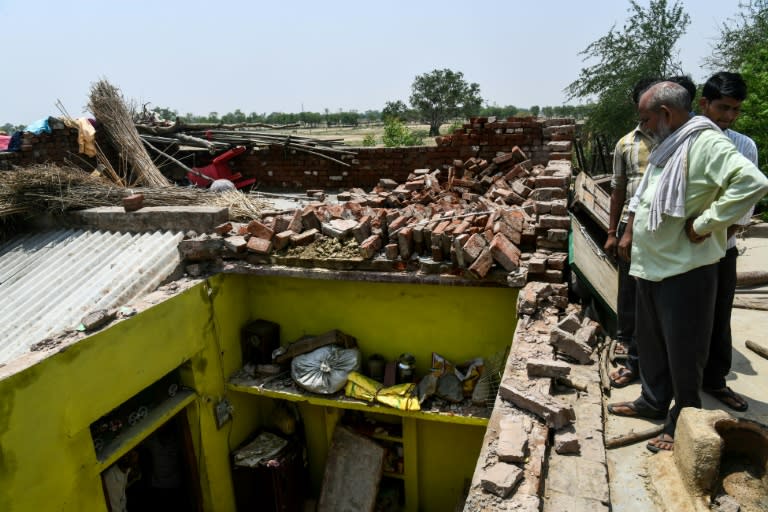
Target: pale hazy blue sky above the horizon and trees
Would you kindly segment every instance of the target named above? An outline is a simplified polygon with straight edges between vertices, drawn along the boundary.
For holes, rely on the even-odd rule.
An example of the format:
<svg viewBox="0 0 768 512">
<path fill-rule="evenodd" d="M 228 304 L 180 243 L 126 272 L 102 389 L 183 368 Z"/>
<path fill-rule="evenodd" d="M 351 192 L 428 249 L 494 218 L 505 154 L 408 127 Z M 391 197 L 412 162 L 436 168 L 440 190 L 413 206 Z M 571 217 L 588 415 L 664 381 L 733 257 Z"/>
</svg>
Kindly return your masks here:
<svg viewBox="0 0 768 512">
<path fill-rule="evenodd" d="M 647 0 L 638 0 L 646 6 Z M 670 0 L 672 2 L 672 0 Z M 684 0 L 686 72 L 711 74 L 739 0 Z M 487 103 L 561 105 L 578 53 L 621 27 L 628 0 L 0 0 L 0 124 L 86 113 L 91 83 L 181 114 L 381 110 L 449 68 Z M 575 102 L 570 102 L 575 103 Z"/>
</svg>

